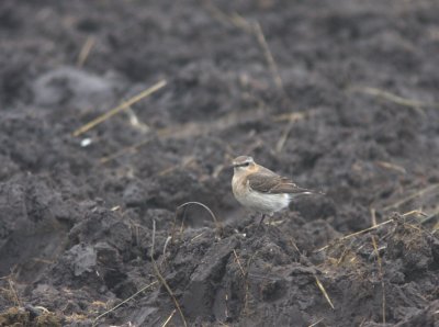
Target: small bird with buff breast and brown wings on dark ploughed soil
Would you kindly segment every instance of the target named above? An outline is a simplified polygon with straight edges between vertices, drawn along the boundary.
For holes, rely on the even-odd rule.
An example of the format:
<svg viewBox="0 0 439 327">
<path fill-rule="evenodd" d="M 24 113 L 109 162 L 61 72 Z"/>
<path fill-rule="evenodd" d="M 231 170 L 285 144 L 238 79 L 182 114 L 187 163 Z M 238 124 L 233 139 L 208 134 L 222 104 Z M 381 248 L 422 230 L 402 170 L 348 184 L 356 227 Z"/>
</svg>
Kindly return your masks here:
<svg viewBox="0 0 439 327">
<path fill-rule="evenodd" d="M 232 189 L 236 200 L 244 206 L 266 215 L 281 211 L 290 205 L 297 195 L 313 194 L 299 188 L 292 180 L 281 177 L 254 161 L 254 158 L 240 156 L 233 160 L 234 177 Z"/>
</svg>

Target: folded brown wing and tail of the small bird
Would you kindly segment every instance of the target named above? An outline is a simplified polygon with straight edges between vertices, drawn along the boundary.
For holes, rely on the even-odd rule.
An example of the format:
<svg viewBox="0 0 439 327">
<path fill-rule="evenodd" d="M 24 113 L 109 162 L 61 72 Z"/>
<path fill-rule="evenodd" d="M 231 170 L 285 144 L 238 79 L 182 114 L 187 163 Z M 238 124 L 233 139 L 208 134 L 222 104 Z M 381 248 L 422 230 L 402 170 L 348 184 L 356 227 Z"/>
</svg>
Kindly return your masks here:
<svg viewBox="0 0 439 327">
<path fill-rule="evenodd" d="M 258 172 L 248 177 L 249 187 L 261 193 L 305 193 L 309 190 L 299 188 L 292 180 L 274 172 Z"/>
</svg>

